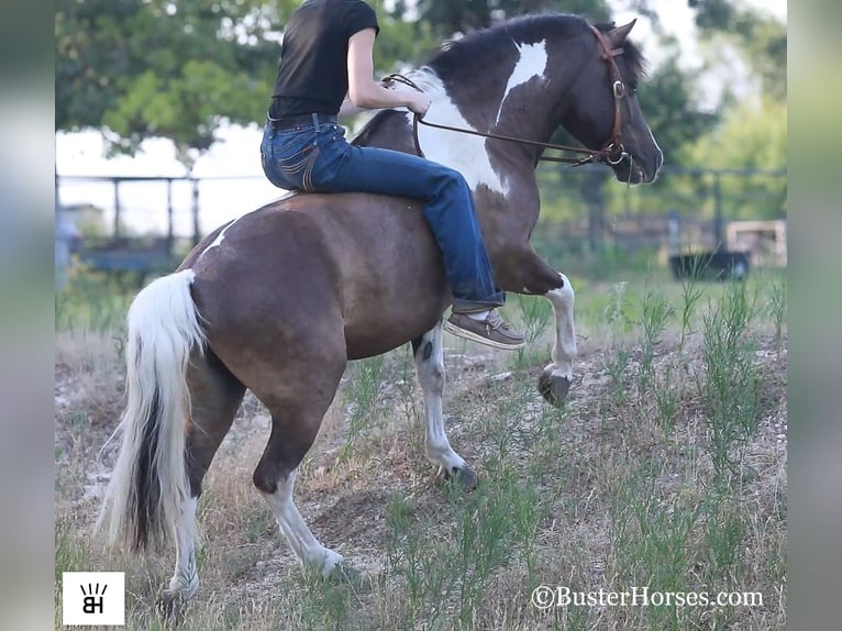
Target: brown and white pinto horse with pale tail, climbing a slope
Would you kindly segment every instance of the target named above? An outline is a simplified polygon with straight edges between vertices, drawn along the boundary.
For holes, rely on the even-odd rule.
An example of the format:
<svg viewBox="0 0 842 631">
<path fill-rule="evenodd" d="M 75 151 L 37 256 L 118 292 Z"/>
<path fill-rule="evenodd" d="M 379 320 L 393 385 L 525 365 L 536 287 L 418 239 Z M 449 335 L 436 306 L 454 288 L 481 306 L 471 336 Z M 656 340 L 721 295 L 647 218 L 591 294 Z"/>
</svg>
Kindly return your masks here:
<svg viewBox="0 0 842 631">
<path fill-rule="evenodd" d="M 549 148 L 566 148 L 584 154 L 575 162 L 607 164 L 621 182 L 655 179 L 663 153 L 635 96 L 644 60 L 627 40 L 633 24 L 536 14 L 445 43 L 403 77 L 432 97 L 428 114 L 380 111 L 354 140 L 423 153 L 465 176 L 500 288 L 554 308 L 552 363 L 539 387 L 555 405 L 573 378 L 574 290 L 530 246 L 534 171 Z M 584 147 L 551 145 L 560 126 Z M 175 543 L 165 608 L 199 588 L 202 479 L 246 389 L 272 416 L 253 483 L 301 564 L 325 577 L 342 571 L 342 556 L 309 530 L 293 485 L 350 359 L 410 343 L 426 456 L 476 485 L 442 414 L 451 300 L 419 200 L 366 193 L 281 197 L 212 231 L 137 294 L 126 318 L 122 442 L 98 524 L 133 551 Z"/>
</svg>

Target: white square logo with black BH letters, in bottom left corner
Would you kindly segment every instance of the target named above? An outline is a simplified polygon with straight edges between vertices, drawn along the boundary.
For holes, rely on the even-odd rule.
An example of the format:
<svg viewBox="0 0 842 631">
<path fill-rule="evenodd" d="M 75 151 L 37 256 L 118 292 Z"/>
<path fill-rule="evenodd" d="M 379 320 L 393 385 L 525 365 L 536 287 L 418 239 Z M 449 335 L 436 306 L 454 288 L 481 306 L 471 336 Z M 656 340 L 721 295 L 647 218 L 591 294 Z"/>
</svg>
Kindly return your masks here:
<svg viewBox="0 0 842 631">
<path fill-rule="evenodd" d="M 125 574 L 65 572 L 62 600 L 62 624 L 125 624 Z"/>
</svg>

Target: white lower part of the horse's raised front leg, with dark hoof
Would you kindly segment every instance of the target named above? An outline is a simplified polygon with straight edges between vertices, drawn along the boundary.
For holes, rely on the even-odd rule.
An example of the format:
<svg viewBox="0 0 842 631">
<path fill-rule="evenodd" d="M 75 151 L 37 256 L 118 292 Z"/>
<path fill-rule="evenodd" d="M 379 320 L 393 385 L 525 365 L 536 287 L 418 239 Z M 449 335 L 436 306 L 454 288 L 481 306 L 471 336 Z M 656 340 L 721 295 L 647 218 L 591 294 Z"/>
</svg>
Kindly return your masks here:
<svg viewBox="0 0 842 631">
<path fill-rule="evenodd" d="M 563 285 L 544 294 L 555 312 L 555 344 L 553 363 L 544 368 L 538 389 L 553 406 L 562 407 L 573 381 L 573 361 L 576 357 L 576 332 L 573 324 L 573 285 L 560 274 Z"/>
</svg>

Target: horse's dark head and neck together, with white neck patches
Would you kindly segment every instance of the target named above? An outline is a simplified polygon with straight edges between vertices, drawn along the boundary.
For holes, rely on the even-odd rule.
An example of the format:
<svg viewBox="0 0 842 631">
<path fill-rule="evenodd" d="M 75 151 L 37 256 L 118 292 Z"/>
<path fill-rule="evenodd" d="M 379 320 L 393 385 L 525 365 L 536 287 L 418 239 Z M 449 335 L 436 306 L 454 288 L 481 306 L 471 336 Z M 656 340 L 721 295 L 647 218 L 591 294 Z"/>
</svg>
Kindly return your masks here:
<svg viewBox="0 0 842 631">
<path fill-rule="evenodd" d="M 510 176 L 502 165 L 523 159 L 534 169 L 545 148 L 588 154 L 585 160 L 605 162 L 622 181 L 652 181 L 664 156 L 638 104 L 643 58 L 627 41 L 633 25 L 591 26 L 578 15 L 546 13 L 469 33 L 442 46 L 409 81 L 401 77 L 433 96 L 418 144 L 412 118 L 397 112 L 381 112 L 355 142 L 423 151 L 472 186 L 500 191 Z M 549 144 L 560 124 L 587 150 Z"/>
</svg>

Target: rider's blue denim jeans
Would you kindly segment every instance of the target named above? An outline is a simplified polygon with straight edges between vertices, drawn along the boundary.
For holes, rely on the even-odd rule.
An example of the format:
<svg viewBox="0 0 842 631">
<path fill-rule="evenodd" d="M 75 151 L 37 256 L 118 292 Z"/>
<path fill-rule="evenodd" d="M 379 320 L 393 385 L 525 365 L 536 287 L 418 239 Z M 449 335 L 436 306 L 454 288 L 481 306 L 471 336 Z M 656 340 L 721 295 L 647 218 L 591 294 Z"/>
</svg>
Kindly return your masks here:
<svg viewBox="0 0 842 631">
<path fill-rule="evenodd" d="M 278 131 L 267 123 L 261 145 L 263 170 L 279 188 L 309 192 L 374 192 L 413 197 L 444 258 L 453 310 L 469 313 L 503 303 L 465 178 L 414 155 L 351 145 L 336 123 Z"/>
</svg>

